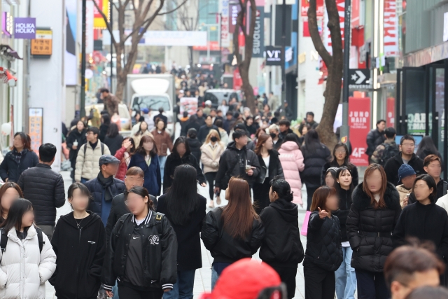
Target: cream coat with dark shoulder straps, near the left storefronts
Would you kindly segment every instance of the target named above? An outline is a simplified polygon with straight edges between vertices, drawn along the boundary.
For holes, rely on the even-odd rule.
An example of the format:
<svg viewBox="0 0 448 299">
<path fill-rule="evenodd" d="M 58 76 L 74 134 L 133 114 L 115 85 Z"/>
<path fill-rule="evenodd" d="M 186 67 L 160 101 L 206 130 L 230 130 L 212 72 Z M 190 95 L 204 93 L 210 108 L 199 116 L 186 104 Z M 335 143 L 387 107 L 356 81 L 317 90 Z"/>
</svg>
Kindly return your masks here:
<svg viewBox="0 0 448 299">
<path fill-rule="evenodd" d="M 84 146 L 87 146 L 84 157 Z M 78 151 L 78 156 L 76 157 L 76 169 L 75 169 L 75 181 L 80 181 L 81 178 L 84 179 L 94 179 L 99 173 L 99 158 L 102 155 L 110 155 L 111 151 L 104 144 L 104 153 L 101 152 L 101 141 L 98 139 L 98 144 L 95 149 L 92 148 L 90 143 L 83 144 Z"/>
</svg>

